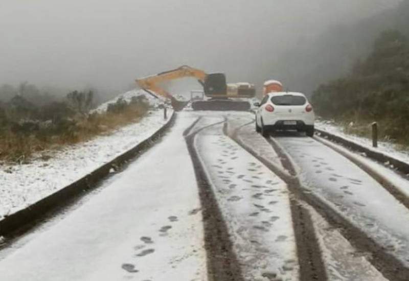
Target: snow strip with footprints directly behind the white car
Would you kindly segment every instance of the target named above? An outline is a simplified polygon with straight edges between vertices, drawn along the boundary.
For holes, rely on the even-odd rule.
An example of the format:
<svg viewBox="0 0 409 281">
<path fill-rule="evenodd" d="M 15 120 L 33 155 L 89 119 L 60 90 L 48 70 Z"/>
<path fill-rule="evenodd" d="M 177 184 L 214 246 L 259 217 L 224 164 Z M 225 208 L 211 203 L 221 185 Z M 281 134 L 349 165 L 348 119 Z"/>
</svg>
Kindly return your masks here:
<svg viewBox="0 0 409 281">
<path fill-rule="evenodd" d="M 316 140 L 275 139 L 291 156 L 310 192 L 409 266 L 408 209 L 354 163 Z"/>
</svg>

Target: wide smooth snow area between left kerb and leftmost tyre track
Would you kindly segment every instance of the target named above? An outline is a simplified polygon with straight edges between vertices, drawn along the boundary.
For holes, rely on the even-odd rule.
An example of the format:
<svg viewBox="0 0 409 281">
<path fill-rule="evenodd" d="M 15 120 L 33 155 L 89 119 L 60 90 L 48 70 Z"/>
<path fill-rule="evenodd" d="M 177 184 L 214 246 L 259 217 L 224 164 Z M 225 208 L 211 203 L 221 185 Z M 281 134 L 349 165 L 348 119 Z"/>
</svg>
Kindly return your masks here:
<svg viewBox="0 0 409 281">
<path fill-rule="evenodd" d="M 207 280 L 195 173 L 177 119 L 166 141 L 0 262 L 1 280 Z M 175 165 L 177 163 L 177 165 Z"/>
</svg>

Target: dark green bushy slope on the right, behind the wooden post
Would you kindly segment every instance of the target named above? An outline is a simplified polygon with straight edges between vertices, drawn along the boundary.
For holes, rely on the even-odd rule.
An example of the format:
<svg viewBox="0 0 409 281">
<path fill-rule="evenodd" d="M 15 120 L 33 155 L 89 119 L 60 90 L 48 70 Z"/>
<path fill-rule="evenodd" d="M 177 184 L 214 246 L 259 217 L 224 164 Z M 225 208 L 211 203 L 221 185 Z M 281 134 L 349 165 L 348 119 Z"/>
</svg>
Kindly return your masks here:
<svg viewBox="0 0 409 281">
<path fill-rule="evenodd" d="M 366 59 L 343 78 L 321 85 L 312 97 L 324 118 L 368 124 L 384 137 L 409 143 L 409 41 L 398 30 L 382 32 Z"/>
</svg>

